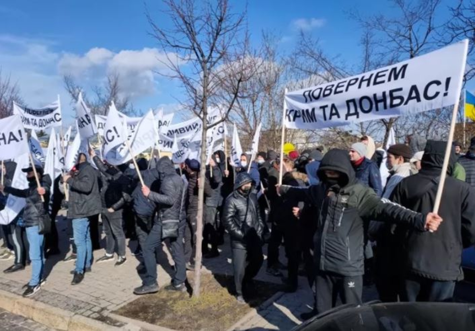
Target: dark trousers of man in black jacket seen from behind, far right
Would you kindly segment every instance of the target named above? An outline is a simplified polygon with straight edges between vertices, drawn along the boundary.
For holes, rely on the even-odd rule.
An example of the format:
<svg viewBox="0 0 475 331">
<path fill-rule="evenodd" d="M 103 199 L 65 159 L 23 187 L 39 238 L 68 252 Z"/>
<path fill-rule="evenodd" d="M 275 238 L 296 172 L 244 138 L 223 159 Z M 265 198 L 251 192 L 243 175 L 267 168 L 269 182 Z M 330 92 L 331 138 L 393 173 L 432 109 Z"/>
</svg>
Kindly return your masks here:
<svg viewBox="0 0 475 331">
<path fill-rule="evenodd" d="M 454 298 L 455 281 L 439 281 L 409 275 L 404 279 L 402 301 L 450 302 Z"/>
</svg>

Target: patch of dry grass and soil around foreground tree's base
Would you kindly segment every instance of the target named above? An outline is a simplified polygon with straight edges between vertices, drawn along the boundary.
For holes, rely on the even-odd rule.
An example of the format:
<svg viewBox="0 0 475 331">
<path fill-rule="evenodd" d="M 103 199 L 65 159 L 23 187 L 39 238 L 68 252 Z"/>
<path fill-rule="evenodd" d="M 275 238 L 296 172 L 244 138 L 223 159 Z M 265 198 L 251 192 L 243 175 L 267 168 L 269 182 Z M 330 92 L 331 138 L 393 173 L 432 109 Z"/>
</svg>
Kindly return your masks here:
<svg viewBox="0 0 475 331">
<path fill-rule="evenodd" d="M 246 298 L 248 304 L 239 304 L 232 294 L 232 276 L 202 274 L 198 299 L 188 293 L 160 290 L 138 297 L 114 313 L 179 331 L 224 331 L 251 307 L 259 306 L 282 290 L 282 285 L 260 281 L 255 284 L 256 291 Z"/>
</svg>

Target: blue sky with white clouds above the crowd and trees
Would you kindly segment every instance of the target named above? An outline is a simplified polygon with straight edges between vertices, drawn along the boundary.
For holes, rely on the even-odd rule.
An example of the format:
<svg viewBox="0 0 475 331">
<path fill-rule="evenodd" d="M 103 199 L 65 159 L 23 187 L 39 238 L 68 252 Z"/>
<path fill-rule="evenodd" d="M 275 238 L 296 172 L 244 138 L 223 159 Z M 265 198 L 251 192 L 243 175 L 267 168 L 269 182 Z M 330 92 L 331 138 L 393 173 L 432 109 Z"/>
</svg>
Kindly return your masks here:
<svg viewBox="0 0 475 331">
<path fill-rule="evenodd" d="M 18 0 L 0 3 L 0 66 L 3 74 L 17 81 L 26 103 L 43 106 L 59 94 L 65 122 L 74 117 L 63 87 L 63 74 L 72 74 L 90 88 L 116 71 L 123 86 L 133 94 L 141 110 L 177 107 L 179 85 L 154 71 L 164 70 L 149 35 L 145 5 L 166 26 L 161 1 L 155 0 Z M 447 17 L 443 1 L 439 17 Z M 244 1 L 233 1 L 235 9 Z M 348 12 L 365 15 L 390 14 L 385 0 L 249 0 L 248 26 L 254 43 L 261 31 L 281 37 L 282 51 L 290 52 L 300 28 L 311 31 L 331 55 L 341 55 L 349 64 L 360 58 L 361 29 Z"/>
</svg>

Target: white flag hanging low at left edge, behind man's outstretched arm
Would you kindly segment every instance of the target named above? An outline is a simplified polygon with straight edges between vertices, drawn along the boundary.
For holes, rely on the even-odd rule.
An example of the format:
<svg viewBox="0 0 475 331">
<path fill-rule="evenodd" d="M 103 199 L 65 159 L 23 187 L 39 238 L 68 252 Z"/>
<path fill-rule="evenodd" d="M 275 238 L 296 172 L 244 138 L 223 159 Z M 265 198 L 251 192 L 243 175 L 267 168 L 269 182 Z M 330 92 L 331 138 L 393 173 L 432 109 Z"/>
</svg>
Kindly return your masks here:
<svg viewBox="0 0 475 331">
<path fill-rule="evenodd" d="M 21 171 L 21 169 L 28 168 L 28 166 L 30 165 L 28 151 L 27 153 L 15 157 L 14 161 L 17 164 L 17 167 L 15 169 L 15 174 L 13 175 L 13 180 L 11 181 L 11 186 L 20 190 L 26 189 L 28 188 L 28 180 L 26 174 Z M 17 196 L 14 196 L 13 194 L 10 194 L 7 198 L 5 208 L 0 211 L 0 224 L 10 224 L 13 220 L 15 220 L 19 212 L 24 207 L 25 198 L 19 198 Z"/>
</svg>

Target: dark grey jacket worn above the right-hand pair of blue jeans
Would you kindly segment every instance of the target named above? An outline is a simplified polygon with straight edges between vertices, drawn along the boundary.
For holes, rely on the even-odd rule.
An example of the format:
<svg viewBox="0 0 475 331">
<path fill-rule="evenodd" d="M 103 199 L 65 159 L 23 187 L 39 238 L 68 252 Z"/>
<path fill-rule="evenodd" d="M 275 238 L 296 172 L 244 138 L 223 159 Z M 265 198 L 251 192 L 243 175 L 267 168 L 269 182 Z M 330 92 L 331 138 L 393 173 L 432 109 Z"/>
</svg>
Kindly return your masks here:
<svg viewBox="0 0 475 331">
<path fill-rule="evenodd" d="M 102 210 L 98 172 L 88 162 L 76 165 L 76 173 L 67 180 L 69 185 L 68 219 L 97 215 Z M 59 185 L 60 189 L 62 185 Z"/>
</svg>

